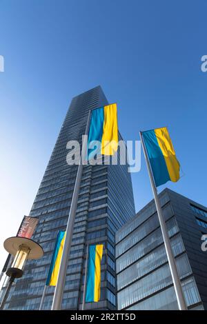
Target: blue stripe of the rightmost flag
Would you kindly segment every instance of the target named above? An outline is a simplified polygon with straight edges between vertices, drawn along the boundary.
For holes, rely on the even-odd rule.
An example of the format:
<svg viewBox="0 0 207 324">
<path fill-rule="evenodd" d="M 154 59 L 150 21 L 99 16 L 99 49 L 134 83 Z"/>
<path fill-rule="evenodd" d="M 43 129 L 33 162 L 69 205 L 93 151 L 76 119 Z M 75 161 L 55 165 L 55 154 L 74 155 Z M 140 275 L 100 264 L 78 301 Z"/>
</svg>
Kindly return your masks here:
<svg viewBox="0 0 207 324">
<path fill-rule="evenodd" d="M 143 132 L 142 136 L 148 152 L 152 173 L 155 179 L 155 185 L 158 187 L 159 185 L 163 185 L 170 180 L 166 161 L 161 152 L 161 148 L 159 148 L 155 131 L 148 130 L 147 132 Z"/>
</svg>

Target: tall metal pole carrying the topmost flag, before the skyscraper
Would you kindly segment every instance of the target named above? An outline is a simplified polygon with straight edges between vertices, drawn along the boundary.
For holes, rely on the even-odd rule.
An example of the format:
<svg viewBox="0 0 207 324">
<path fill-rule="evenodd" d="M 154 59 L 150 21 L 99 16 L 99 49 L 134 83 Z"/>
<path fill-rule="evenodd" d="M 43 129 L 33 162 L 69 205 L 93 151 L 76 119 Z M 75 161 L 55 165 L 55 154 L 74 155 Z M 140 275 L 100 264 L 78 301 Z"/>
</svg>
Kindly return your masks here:
<svg viewBox="0 0 207 324">
<path fill-rule="evenodd" d="M 90 114 L 91 111 L 89 110 L 88 112 L 88 121 L 86 124 L 86 132 L 85 134 L 88 135 L 88 130 L 90 126 Z M 57 285 L 55 287 L 55 294 L 54 298 L 52 301 L 52 308 L 51 310 L 61 310 L 61 301 L 63 297 L 63 290 L 64 290 L 64 285 L 66 281 L 66 272 L 67 272 L 67 267 L 68 267 L 68 258 L 70 254 L 70 245 L 72 241 L 72 232 L 73 232 L 73 225 L 75 221 L 75 214 L 77 210 L 77 201 L 78 201 L 78 196 L 79 196 L 79 188 L 81 184 L 81 176 L 83 172 L 83 160 L 85 159 L 86 156 L 86 148 L 87 148 L 87 141 L 86 137 L 84 137 L 83 144 L 82 144 L 82 152 L 81 152 L 81 159 L 79 162 L 79 168 L 77 170 L 77 176 L 75 180 L 75 188 L 73 190 L 72 194 L 72 201 L 70 205 L 70 212 L 68 216 L 68 224 L 66 228 L 66 239 L 65 243 L 63 246 L 63 254 L 61 257 L 61 263 L 59 267 L 59 274 L 57 278 Z"/>
</svg>

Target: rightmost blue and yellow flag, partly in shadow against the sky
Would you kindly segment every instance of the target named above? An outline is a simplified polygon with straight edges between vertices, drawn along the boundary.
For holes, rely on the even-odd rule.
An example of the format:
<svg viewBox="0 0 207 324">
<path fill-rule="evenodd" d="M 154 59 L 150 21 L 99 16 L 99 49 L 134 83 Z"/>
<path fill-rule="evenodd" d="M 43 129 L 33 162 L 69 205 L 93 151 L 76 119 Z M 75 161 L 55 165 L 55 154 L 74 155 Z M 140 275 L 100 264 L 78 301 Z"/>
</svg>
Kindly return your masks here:
<svg viewBox="0 0 207 324">
<path fill-rule="evenodd" d="M 155 185 L 179 180 L 179 162 L 166 127 L 142 132 Z"/>
</svg>

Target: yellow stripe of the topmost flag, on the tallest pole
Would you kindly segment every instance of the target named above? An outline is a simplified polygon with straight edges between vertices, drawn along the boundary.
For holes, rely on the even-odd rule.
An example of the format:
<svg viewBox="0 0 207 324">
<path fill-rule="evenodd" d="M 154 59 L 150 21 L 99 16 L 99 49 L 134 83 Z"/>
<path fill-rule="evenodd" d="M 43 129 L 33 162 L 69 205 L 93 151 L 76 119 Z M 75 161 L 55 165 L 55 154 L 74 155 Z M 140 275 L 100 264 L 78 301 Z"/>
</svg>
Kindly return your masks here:
<svg viewBox="0 0 207 324">
<path fill-rule="evenodd" d="M 101 154 L 113 155 L 118 148 L 117 104 L 105 105 L 103 108 L 103 135 Z"/>
</svg>

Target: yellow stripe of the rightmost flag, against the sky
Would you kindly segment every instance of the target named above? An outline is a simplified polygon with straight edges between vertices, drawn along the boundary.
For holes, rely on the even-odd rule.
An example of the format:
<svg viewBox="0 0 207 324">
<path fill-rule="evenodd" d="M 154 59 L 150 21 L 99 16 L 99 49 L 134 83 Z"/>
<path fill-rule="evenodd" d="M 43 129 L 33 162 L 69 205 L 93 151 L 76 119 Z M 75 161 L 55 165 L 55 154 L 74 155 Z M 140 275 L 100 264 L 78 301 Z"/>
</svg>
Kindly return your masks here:
<svg viewBox="0 0 207 324">
<path fill-rule="evenodd" d="M 179 162 L 177 161 L 168 130 L 166 127 L 158 128 L 155 130 L 155 135 L 159 148 L 164 155 L 170 179 L 173 182 L 177 182 L 179 180 Z"/>
</svg>

